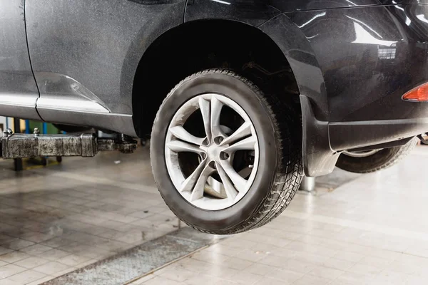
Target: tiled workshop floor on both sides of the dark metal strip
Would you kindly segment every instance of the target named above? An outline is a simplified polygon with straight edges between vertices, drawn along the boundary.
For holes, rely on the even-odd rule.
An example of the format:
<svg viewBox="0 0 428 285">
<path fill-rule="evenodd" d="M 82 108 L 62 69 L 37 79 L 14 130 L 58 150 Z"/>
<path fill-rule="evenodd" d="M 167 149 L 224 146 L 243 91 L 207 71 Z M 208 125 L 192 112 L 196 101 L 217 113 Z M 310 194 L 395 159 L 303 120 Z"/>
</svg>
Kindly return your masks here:
<svg viewBox="0 0 428 285">
<path fill-rule="evenodd" d="M 265 227 L 134 284 L 428 284 L 427 158 L 417 147 L 389 170 L 299 193 Z M 0 285 L 41 284 L 182 226 L 158 195 L 147 147 L 11 165 L 0 162 Z"/>
</svg>

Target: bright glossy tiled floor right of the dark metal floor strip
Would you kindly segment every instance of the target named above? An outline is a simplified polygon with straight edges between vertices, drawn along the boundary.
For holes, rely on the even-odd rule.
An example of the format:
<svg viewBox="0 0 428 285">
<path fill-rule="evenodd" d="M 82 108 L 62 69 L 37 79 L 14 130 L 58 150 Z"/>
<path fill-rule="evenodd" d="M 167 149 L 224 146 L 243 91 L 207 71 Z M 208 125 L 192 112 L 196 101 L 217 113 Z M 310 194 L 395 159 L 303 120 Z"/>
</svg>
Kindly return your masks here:
<svg viewBox="0 0 428 285">
<path fill-rule="evenodd" d="M 428 284 L 428 147 L 133 284 Z"/>
</svg>

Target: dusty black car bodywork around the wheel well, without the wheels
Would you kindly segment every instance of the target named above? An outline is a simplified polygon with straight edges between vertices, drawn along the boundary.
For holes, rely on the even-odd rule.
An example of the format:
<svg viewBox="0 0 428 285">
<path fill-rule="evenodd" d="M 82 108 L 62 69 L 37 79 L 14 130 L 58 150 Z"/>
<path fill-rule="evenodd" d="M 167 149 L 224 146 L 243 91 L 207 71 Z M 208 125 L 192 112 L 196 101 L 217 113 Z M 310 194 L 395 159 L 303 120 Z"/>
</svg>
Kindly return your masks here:
<svg viewBox="0 0 428 285">
<path fill-rule="evenodd" d="M 16 37 L 0 43 L 12 71 L 1 66 L 0 100 L 16 106 L 0 104 L 2 115 L 136 135 L 133 81 L 147 48 L 183 22 L 223 19 L 259 28 L 290 63 L 307 175 L 330 172 L 342 150 L 428 129 L 428 104 L 401 99 L 428 81 L 428 0 L 34 0 L 25 22 L 24 2 L 7 3 L 16 17 L 6 37 Z"/>
</svg>

